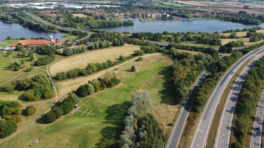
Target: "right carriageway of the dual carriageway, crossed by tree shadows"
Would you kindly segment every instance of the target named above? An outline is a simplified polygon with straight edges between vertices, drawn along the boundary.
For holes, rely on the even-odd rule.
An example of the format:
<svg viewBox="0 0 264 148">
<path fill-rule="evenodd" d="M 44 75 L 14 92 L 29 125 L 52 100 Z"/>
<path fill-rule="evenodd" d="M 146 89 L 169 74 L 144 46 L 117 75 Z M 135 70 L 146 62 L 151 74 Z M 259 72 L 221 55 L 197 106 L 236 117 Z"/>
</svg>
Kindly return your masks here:
<svg viewBox="0 0 264 148">
<path fill-rule="evenodd" d="M 240 75 L 235 81 L 235 84 L 231 88 L 231 92 L 227 97 L 227 102 L 225 104 L 224 111 L 222 113 L 222 117 L 219 124 L 217 139 L 216 139 L 216 148 L 227 148 L 229 143 L 229 138 L 232 130 L 233 116 L 234 110 L 236 106 L 236 101 L 240 89 L 242 87 L 242 83 L 245 80 L 245 75 L 248 74 L 249 69 L 253 68 L 256 61 L 261 58 L 264 54 L 255 54 L 255 58 L 242 70 Z"/>
</svg>

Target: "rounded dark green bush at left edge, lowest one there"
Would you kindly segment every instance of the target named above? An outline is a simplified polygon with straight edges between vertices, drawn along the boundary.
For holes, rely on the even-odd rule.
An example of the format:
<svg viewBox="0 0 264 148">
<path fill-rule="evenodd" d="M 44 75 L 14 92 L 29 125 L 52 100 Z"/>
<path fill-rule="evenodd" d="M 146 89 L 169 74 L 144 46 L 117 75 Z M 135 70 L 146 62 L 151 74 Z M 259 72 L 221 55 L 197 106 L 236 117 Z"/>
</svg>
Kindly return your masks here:
<svg viewBox="0 0 264 148">
<path fill-rule="evenodd" d="M 17 130 L 15 121 L 0 120 L 0 138 L 5 138 Z"/>
</svg>

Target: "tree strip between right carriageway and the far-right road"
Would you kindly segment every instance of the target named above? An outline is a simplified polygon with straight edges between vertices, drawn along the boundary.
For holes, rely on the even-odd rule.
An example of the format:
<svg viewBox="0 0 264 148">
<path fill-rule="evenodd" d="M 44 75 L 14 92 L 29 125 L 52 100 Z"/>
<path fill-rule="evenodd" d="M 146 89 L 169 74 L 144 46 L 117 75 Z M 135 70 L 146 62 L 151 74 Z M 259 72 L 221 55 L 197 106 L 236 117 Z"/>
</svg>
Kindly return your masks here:
<svg viewBox="0 0 264 148">
<path fill-rule="evenodd" d="M 245 147 L 248 128 L 251 117 L 255 116 L 256 103 L 260 97 L 264 80 L 264 57 L 260 58 L 255 66 L 251 68 L 245 76 L 237 102 L 234 121 L 234 133 L 238 142 L 233 142 L 232 146 L 237 148 Z"/>
</svg>

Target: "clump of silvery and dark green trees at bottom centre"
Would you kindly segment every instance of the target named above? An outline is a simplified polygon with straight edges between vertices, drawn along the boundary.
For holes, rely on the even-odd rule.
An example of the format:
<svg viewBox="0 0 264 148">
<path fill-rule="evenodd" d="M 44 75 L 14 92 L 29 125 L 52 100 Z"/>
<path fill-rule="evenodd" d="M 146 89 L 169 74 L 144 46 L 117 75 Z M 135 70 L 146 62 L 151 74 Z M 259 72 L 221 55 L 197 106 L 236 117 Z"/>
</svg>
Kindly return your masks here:
<svg viewBox="0 0 264 148">
<path fill-rule="evenodd" d="M 131 107 L 123 120 L 124 130 L 119 140 L 119 147 L 156 147 L 165 144 L 163 130 L 151 113 L 152 99 L 147 92 L 135 93 L 131 96 Z"/>
</svg>

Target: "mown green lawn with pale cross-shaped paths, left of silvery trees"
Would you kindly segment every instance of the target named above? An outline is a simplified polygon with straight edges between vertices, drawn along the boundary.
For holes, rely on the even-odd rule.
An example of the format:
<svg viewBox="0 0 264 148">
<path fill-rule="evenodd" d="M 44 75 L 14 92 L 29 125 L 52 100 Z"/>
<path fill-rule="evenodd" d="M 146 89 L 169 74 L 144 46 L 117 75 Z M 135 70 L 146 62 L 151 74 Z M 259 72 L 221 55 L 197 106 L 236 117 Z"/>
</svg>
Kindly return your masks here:
<svg viewBox="0 0 264 148">
<path fill-rule="evenodd" d="M 91 113 L 102 111 L 98 117 L 92 114 L 80 116 L 81 112 L 76 112 L 61 117 L 53 124 L 43 124 L 40 120 L 10 140 L 1 143 L 0 147 L 26 147 L 42 137 L 46 139 L 31 147 L 116 147 L 115 142 L 122 131 L 123 118 L 131 105 L 128 97 L 164 65 L 161 62 L 152 62 L 115 88 L 98 92 L 91 98 L 82 98 L 83 103 L 79 110 L 89 109 L 89 112 L 93 109 Z"/>
</svg>

